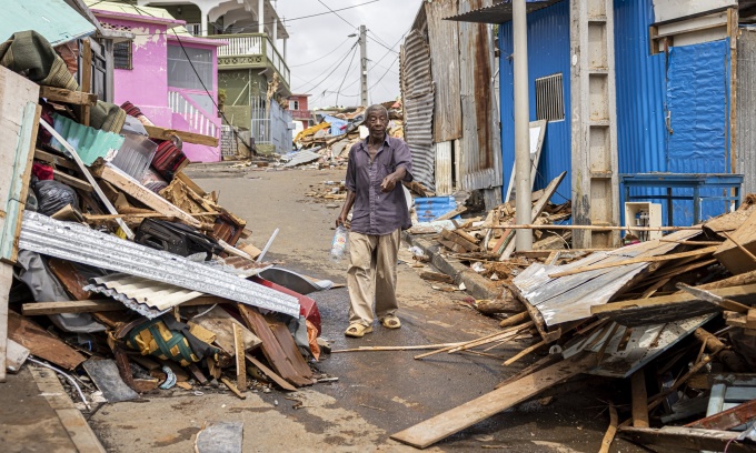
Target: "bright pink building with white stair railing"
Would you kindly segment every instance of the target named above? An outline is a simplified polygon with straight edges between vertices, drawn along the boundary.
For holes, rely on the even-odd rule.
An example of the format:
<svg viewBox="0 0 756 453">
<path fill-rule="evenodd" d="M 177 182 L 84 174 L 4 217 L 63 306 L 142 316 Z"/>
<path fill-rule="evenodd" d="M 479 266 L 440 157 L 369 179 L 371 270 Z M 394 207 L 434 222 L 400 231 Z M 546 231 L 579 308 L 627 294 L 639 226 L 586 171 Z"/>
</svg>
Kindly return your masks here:
<svg viewBox="0 0 756 453">
<path fill-rule="evenodd" d="M 115 46 L 113 102 L 139 107 L 156 125 L 220 138 L 218 47 L 196 38 L 166 10 L 91 1 L 103 28 L 129 31 L 133 41 Z M 220 145 L 183 143 L 192 162 L 221 160 Z"/>
</svg>

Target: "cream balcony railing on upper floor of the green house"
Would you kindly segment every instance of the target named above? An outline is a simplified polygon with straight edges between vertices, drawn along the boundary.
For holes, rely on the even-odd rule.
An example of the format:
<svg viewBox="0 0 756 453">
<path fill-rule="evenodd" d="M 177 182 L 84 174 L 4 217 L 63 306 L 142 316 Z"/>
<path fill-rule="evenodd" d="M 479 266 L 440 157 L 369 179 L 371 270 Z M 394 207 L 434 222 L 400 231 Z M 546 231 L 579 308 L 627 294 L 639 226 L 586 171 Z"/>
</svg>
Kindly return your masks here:
<svg viewBox="0 0 756 453">
<path fill-rule="evenodd" d="M 273 68 L 289 87 L 289 67 L 266 33 L 212 34 L 207 38 L 228 42 L 218 49 L 219 67 L 266 67 Z"/>
</svg>

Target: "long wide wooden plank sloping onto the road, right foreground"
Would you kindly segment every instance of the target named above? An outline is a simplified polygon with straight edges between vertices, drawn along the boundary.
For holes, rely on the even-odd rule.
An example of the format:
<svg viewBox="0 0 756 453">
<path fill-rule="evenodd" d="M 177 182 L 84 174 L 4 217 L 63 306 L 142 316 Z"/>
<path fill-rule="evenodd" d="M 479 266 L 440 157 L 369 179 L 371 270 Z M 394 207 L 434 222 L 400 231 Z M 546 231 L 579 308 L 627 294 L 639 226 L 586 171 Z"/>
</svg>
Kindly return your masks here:
<svg viewBox="0 0 756 453">
<path fill-rule="evenodd" d="M 594 365 L 594 359 L 590 356 L 566 359 L 398 432 L 391 435 L 391 439 L 417 449 L 425 449 L 515 404 L 521 403 L 546 389 L 586 372 Z"/>
</svg>

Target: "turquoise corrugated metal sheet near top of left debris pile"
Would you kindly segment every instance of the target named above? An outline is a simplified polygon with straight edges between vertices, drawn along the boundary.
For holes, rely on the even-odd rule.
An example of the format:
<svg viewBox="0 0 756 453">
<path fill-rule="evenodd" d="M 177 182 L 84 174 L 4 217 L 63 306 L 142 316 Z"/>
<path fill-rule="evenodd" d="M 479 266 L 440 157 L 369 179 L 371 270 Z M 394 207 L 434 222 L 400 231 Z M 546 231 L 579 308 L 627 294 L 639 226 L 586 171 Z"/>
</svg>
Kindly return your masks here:
<svg viewBox="0 0 756 453">
<path fill-rule="evenodd" d="M 56 131 L 73 147 L 87 165 L 94 163 L 97 158 L 111 161 L 121 145 L 123 145 L 123 135 L 118 133 L 90 128 L 57 113 L 52 118 L 54 119 L 53 127 Z M 68 153 L 63 145 L 54 138 L 50 141 L 50 145 Z"/>
</svg>

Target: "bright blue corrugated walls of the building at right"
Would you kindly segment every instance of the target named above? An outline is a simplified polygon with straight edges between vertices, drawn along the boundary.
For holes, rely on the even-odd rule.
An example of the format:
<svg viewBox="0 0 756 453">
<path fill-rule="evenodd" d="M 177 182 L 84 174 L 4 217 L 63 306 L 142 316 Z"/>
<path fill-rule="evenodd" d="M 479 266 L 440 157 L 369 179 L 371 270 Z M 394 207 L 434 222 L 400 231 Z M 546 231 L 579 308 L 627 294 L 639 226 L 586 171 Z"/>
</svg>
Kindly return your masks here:
<svg viewBox="0 0 756 453">
<path fill-rule="evenodd" d="M 729 168 L 726 161 L 729 145 L 728 41 L 673 48 L 665 61 L 664 53 L 650 54 L 648 27 L 654 23 L 653 0 L 615 0 L 614 9 L 619 173 L 726 172 Z M 504 180 L 507 182 L 515 161 L 511 32 L 511 22 L 499 27 L 501 149 Z M 559 194 L 569 198 L 568 0 L 528 14 L 528 64 L 531 121 L 536 118 L 535 79 L 563 73 L 565 121 L 547 125 L 535 189 L 545 187 L 561 171 L 568 170 Z M 673 133 L 665 123 L 667 111 L 672 111 Z M 664 192 L 663 189 L 647 189 L 634 193 Z M 563 200 L 557 195 L 554 201 Z M 664 203 L 663 211 L 666 224 Z M 675 223 L 692 223 L 692 202 L 675 202 Z M 720 214 L 724 203 L 704 202 L 702 212 L 704 219 Z"/>
</svg>

